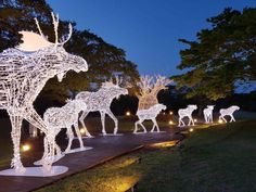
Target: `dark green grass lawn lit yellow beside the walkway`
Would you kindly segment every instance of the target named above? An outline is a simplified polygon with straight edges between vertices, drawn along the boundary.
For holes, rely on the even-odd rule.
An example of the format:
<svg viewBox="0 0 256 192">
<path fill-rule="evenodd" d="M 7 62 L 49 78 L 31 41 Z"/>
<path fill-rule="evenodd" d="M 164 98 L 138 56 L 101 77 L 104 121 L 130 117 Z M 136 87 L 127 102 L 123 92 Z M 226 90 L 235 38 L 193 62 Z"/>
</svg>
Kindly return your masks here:
<svg viewBox="0 0 256 192">
<path fill-rule="evenodd" d="M 196 129 L 179 146 L 148 148 L 39 191 L 117 192 L 136 183 L 139 192 L 255 192 L 256 120 Z"/>
</svg>

